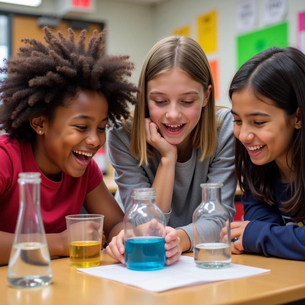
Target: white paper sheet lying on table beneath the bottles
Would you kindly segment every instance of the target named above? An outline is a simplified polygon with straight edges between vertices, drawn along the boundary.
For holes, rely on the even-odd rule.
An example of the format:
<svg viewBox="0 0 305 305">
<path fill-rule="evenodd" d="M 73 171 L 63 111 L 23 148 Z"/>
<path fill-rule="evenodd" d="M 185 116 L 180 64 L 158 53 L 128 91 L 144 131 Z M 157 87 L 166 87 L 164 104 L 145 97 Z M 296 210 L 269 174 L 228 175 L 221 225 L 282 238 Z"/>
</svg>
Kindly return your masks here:
<svg viewBox="0 0 305 305">
<path fill-rule="evenodd" d="M 228 268 L 209 270 L 199 268 L 193 257 L 181 256 L 177 263 L 155 271 L 134 271 L 123 264 L 78 268 L 78 271 L 100 278 L 136 286 L 152 292 L 160 292 L 182 286 L 203 284 L 214 281 L 242 278 L 265 273 L 269 269 L 231 264 Z"/>
</svg>

